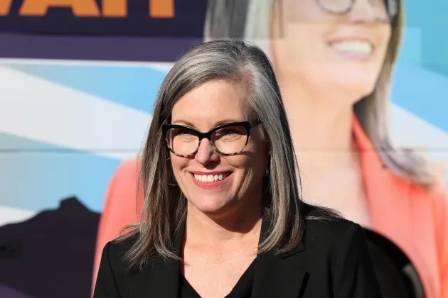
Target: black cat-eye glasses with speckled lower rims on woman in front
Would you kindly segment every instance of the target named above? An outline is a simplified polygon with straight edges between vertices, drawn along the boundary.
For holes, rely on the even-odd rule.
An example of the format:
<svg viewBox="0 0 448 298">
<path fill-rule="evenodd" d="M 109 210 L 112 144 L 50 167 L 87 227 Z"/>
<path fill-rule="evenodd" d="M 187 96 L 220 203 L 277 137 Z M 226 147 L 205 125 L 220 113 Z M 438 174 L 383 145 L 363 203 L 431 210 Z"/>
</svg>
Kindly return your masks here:
<svg viewBox="0 0 448 298">
<path fill-rule="evenodd" d="M 210 140 L 213 149 L 220 155 L 235 155 L 244 150 L 249 140 L 250 130 L 260 123 L 259 119 L 225 123 L 206 133 L 201 133 L 189 126 L 164 124 L 162 131 L 169 150 L 183 158 L 198 152 L 203 138 Z"/>
</svg>

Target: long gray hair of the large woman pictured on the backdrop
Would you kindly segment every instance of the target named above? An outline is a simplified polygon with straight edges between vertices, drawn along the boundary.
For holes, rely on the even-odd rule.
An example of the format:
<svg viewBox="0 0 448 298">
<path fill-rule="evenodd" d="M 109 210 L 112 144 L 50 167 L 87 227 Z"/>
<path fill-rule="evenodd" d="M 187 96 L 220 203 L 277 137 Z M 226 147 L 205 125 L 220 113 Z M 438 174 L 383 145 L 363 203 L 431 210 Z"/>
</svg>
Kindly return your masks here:
<svg viewBox="0 0 448 298">
<path fill-rule="evenodd" d="M 205 39 L 235 38 L 259 40 L 262 45 L 269 43 L 275 1 L 277 0 L 208 0 Z M 395 148 L 388 126 L 390 81 L 400 48 L 405 17 L 402 2 L 400 0 L 388 52 L 375 89 L 359 100 L 353 109 L 384 165 L 401 177 L 430 187 L 436 182 L 432 164 L 412 150 Z M 269 47 L 264 47 L 264 50 L 269 53 Z"/>
</svg>

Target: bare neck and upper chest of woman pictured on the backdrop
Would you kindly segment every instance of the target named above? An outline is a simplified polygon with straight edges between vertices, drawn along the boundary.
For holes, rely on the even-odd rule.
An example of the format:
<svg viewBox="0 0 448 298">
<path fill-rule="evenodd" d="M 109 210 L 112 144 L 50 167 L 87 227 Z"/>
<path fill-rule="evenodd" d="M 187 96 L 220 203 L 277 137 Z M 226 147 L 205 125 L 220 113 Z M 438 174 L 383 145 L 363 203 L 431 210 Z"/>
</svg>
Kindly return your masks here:
<svg viewBox="0 0 448 298">
<path fill-rule="evenodd" d="M 368 226 L 366 193 L 352 133 L 354 100 L 325 89 L 306 93 L 297 82 L 282 83 L 299 162 L 302 199 L 334 208 Z"/>
</svg>

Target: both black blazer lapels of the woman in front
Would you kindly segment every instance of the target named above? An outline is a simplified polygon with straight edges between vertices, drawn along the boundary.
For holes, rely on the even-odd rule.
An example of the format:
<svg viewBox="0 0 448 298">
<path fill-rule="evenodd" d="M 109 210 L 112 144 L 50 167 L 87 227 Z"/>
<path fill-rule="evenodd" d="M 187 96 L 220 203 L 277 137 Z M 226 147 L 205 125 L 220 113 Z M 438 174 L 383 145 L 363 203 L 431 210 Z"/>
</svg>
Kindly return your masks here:
<svg viewBox="0 0 448 298">
<path fill-rule="evenodd" d="M 270 226 L 270 219 L 262 220 L 260 241 Z M 183 221 L 174 236 L 174 250 L 181 256 L 186 222 Z M 299 267 L 297 254 L 305 249 L 304 242 L 294 250 L 284 254 L 265 253 L 255 260 L 255 276 L 252 297 L 299 297 L 306 284 L 308 273 Z M 132 282 L 129 297 L 140 297 L 142 293 L 151 293 L 154 297 L 177 298 L 180 278 L 180 263 L 165 260 L 157 255 L 144 269 L 137 273 Z"/>
</svg>

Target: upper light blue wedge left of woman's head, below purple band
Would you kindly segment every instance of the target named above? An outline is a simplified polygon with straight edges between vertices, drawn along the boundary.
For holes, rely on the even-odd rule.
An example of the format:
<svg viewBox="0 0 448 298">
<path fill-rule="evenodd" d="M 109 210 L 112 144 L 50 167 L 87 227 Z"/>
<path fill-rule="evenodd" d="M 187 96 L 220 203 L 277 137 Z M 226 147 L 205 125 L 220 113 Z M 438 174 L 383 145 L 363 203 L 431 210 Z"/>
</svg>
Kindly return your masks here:
<svg viewBox="0 0 448 298">
<path fill-rule="evenodd" d="M 117 104 L 150 112 L 165 72 L 146 66 L 25 64 L 4 66 Z"/>
</svg>

